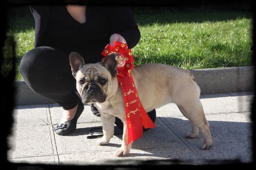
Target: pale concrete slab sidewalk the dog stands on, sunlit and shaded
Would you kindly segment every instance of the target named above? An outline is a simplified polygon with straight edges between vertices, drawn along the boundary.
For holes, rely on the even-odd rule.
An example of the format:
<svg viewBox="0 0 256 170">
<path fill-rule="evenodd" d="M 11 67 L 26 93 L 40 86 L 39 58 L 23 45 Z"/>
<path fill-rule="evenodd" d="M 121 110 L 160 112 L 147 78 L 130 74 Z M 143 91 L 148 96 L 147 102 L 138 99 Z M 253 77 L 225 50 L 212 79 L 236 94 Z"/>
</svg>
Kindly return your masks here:
<svg viewBox="0 0 256 170">
<path fill-rule="evenodd" d="M 77 129 L 67 136 L 53 133 L 60 121 L 62 108 L 56 104 L 15 107 L 13 136 L 8 161 L 42 165 L 208 165 L 228 164 L 237 160 L 253 162 L 251 103 L 252 92 L 202 95 L 201 102 L 210 123 L 213 148 L 201 150 L 203 136 L 185 139 L 191 131 L 190 122 L 175 104 L 156 109 L 156 128 L 144 132 L 135 141 L 128 157 L 115 157 L 122 144 L 122 135 L 114 135 L 107 146 L 97 146 L 87 139 L 89 130 L 100 127 L 100 118 L 85 109 Z M 118 127 L 115 127 L 118 131 Z M 178 161 L 178 162 L 177 162 Z"/>
</svg>

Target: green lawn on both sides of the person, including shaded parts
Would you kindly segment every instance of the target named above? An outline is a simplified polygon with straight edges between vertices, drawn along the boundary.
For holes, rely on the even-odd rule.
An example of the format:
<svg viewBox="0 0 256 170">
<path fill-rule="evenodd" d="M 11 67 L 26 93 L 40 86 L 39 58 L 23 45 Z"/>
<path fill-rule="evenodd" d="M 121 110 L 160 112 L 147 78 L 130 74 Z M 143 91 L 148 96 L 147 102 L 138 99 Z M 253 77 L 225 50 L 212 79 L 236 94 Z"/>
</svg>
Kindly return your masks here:
<svg viewBox="0 0 256 170">
<path fill-rule="evenodd" d="M 16 80 L 21 80 L 18 66 L 34 46 L 34 19 L 24 8 L 21 14 L 15 11 L 17 15 L 12 13 L 8 19 L 7 35 L 13 35 L 16 42 Z M 165 63 L 183 69 L 254 65 L 253 14 L 247 6 L 133 7 L 133 13 L 141 31 L 141 39 L 132 49 L 135 65 Z M 7 42 L 2 74 L 11 68 Z"/>
</svg>

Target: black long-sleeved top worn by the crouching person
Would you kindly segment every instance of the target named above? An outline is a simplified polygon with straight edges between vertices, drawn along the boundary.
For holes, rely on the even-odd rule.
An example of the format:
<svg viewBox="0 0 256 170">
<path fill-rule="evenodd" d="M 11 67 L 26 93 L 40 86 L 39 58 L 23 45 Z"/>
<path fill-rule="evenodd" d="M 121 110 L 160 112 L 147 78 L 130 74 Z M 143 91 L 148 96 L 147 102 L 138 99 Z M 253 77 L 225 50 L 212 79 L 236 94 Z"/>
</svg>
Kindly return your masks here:
<svg viewBox="0 0 256 170">
<path fill-rule="evenodd" d="M 30 10 L 35 19 L 34 47 L 76 51 L 86 63 L 100 61 L 114 33 L 125 38 L 128 48 L 137 45 L 141 36 L 129 6 L 86 6 L 83 24 L 68 13 L 65 5 L 30 5 Z"/>
</svg>

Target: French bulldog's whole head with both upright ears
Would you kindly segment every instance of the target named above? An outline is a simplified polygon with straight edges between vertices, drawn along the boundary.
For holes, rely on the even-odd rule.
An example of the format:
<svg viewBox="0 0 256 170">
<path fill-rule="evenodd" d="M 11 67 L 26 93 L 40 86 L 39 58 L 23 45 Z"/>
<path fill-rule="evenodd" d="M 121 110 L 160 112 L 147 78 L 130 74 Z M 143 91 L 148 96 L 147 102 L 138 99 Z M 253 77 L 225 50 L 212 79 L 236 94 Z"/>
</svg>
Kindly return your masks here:
<svg viewBox="0 0 256 170">
<path fill-rule="evenodd" d="M 116 53 L 110 53 L 102 62 L 85 64 L 78 53 L 71 52 L 69 61 L 83 103 L 103 103 L 117 91 Z"/>
</svg>

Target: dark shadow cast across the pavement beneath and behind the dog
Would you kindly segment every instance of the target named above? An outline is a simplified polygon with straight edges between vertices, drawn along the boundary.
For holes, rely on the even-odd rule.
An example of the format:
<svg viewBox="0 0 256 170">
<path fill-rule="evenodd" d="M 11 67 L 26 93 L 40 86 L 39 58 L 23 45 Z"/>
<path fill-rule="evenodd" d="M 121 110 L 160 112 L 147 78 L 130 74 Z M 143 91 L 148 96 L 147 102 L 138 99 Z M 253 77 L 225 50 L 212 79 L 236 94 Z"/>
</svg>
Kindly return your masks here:
<svg viewBox="0 0 256 170">
<path fill-rule="evenodd" d="M 127 157 L 153 156 L 175 159 L 178 157 L 188 157 L 189 154 L 193 155 L 196 152 L 195 154 L 202 154 L 204 155 L 204 159 L 209 160 L 214 158 L 218 160 L 224 157 L 227 157 L 227 160 L 234 160 L 242 155 L 243 159 L 249 160 L 252 158 L 250 152 L 252 153 L 251 146 L 253 145 L 253 123 L 209 121 L 209 124 L 213 148 L 210 151 L 203 151 L 201 145 L 204 139 L 201 132 L 199 132 L 199 136 L 196 139 L 186 139 L 186 135 L 191 132 L 191 123 L 189 120 L 173 117 L 157 117 L 155 121 L 156 128 L 151 128 L 143 132 L 141 138 L 133 143 L 130 154 Z M 98 135 L 88 135 L 89 132 L 102 133 L 102 127 L 78 128 L 73 135 Z M 122 130 L 117 126 L 115 126 L 114 136 L 122 140 Z M 111 141 L 106 146 L 116 147 L 117 149 L 121 147 L 122 143 L 117 144 Z M 133 150 L 139 151 L 133 152 Z"/>
</svg>

